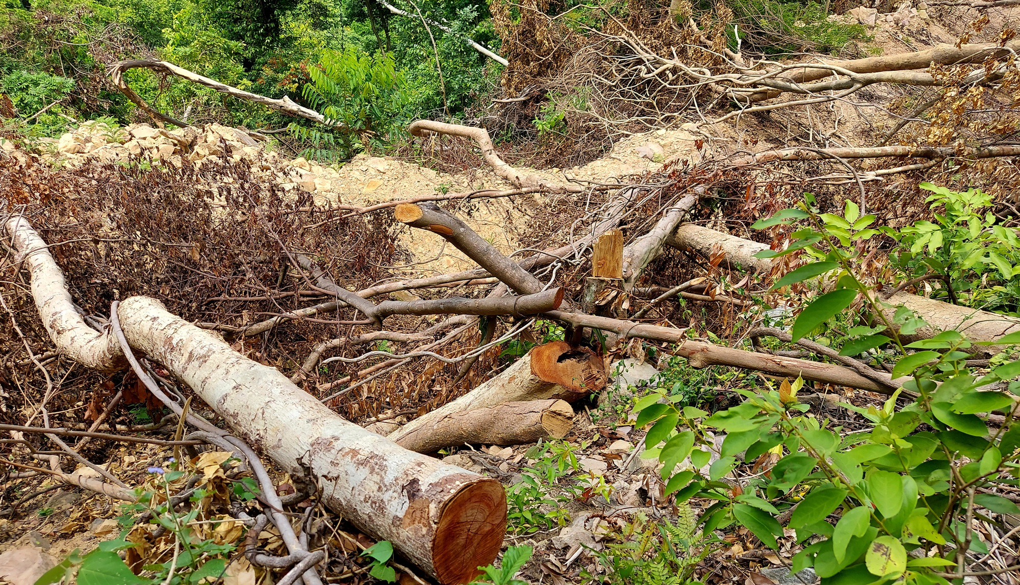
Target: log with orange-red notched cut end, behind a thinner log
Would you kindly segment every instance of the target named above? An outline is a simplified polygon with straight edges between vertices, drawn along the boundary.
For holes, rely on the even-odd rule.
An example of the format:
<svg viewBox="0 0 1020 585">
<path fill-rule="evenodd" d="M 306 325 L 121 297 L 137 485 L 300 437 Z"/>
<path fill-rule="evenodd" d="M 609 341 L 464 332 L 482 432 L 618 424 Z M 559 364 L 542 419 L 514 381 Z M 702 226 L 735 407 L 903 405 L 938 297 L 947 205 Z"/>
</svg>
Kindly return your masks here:
<svg viewBox="0 0 1020 585">
<path fill-rule="evenodd" d="M 504 403 L 579 400 L 606 385 L 602 360 L 590 350 L 574 350 L 564 341 L 533 348 L 503 373 L 482 382 L 463 396 L 422 415 L 389 435 L 401 442 L 405 436 L 432 432 L 447 417 Z"/>
</svg>

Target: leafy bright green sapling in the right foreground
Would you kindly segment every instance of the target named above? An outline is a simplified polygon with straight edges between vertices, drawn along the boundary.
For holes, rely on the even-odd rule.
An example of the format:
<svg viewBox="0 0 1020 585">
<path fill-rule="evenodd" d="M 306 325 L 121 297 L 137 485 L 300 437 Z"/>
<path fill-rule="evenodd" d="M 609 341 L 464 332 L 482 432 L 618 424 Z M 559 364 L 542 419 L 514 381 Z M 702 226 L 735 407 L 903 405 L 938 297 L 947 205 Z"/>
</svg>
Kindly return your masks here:
<svg viewBox="0 0 1020 585">
<path fill-rule="evenodd" d="M 803 547 L 792 569 L 813 568 L 823 585 L 948 585 L 1020 571 L 986 565 L 987 545 L 973 528 L 977 519 L 994 522 L 990 514 L 1020 514 L 998 493 L 1017 485 L 1020 470 L 1020 426 L 1014 424 L 1020 361 L 1003 354 L 986 372 L 967 364 L 974 345 L 1009 347 L 1020 343 L 1020 334 L 971 342 L 964 332 L 942 331 L 904 342 L 901 332 L 923 322 L 907 310 L 882 311 L 888 307 L 860 275 L 858 244 L 895 231 L 875 221 L 853 202 L 842 216 L 821 213 L 807 195 L 798 208 L 754 226 L 796 227 L 786 249 L 760 257 L 810 257 L 776 287 L 819 277 L 830 285 L 797 316 L 795 341 L 838 315 L 874 316 L 833 339 L 849 356 L 884 348 L 895 362 L 892 378 L 905 380 L 881 407 L 844 405 L 866 421 L 866 432 L 846 433 L 836 421 L 809 413 L 798 401 L 801 379 L 737 389 L 741 405 L 712 414 L 680 406 L 678 396 L 660 389 L 634 405 L 636 426 L 650 426 L 646 456 L 663 464 L 666 494 L 677 502 L 715 500 L 699 520 L 702 534 L 737 523 L 777 548 L 784 528 L 793 529 Z M 1001 415 L 989 426 L 991 413 Z M 717 457 L 713 433 L 725 433 Z M 732 476 L 736 466 L 756 462 L 763 469 Z"/>
</svg>

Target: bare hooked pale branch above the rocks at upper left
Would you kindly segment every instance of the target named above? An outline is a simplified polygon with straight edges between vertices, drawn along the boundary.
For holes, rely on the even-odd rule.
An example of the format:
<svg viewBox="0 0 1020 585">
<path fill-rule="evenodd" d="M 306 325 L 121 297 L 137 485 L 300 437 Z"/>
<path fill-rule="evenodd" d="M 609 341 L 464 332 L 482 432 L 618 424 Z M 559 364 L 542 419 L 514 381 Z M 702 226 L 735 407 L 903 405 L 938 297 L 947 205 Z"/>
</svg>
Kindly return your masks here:
<svg viewBox="0 0 1020 585">
<path fill-rule="evenodd" d="M 215 79 L 210 79 L 209 77 L 200 75 L 194 71 L 189 71 L 184 67 L 178 67 L 173 63 L 168 61 L 161 61 L 159 59 L 133 59 L 130 61 L 117 61 L 110 66 L 110 76 L 113 78 L 113 84 L 123 92 L 128 98 L 135 102 L 140 108 L 148 112 L 150 115 L 160 119 L 163 122 L 171 123 L 181 127 L 189 126 L 188 122 L 184 122 L 167 116 L 165 114 L 159 113 L 152 109 L 148 104 L 139 97 L 138 94 L 128 86 L 128 83 L 123 79 L 123 72 L 129 69 L 135 68 L 146 68 L 152 69 L 153 71 L 161 73 L 169 73 L 171 75 L 176 75 L 189 82 L 199 84 L 200 86 L 205 86 L 211 88 L 221 94 L 226 94 L 227 96 L 238 98 L 241 100 L 246 100 L 249 102 L 254 102 L 271 108 L 273 110 L 283 112 L 287 115 L 297 116 L 305 119 L 309 119 L 320 124 L 327 123 L 325 116 L 316 112 L 315 110 L 310 110 L 302 105 L 296 104 L 291 98 L 284 96 L 283 99 L 272 99 L 265 96 L 260 96 L 258 94 L 253 94 L 251 92 L 246 92 L 244 90 L 239 90 L 237 88 L 227 86 L 225 84 L 220 84 Z"/>
</svg>

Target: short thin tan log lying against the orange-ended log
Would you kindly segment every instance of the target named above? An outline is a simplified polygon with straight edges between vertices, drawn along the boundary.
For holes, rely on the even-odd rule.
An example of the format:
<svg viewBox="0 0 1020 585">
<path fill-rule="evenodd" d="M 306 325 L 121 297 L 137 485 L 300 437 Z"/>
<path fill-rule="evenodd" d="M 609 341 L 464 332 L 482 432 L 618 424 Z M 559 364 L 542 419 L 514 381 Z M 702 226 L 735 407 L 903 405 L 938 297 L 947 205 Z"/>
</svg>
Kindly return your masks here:
<svg viewBox="0 0 1020 585">
<path fill-rule="evenodd" d="M 406 449 L 430 454 L 464 443 L 511 445 L 533 443 L 547 437 L 563 438 L 572 425 L 570 405 L 550 398 L 449 413 L 410 432 L 398 429 L 390 435 L 390 440 Z"/>
</svg>

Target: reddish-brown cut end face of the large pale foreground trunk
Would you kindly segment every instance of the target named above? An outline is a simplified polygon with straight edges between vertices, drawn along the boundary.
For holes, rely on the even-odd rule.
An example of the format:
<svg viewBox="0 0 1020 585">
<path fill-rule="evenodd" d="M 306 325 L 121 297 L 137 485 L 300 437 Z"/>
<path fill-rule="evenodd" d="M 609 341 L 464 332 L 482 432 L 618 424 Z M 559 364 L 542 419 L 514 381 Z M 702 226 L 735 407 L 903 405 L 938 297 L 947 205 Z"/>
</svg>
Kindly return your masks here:
<svg viewBox="0 0 1020 585">
<path fill-rule="evenodd" d="M 496 561 L 507 528 L 507 498 L 495 479 L 476 481 L 448 499 L 432 538 L 440 583 L 469 583 Z"/>
</svg>

